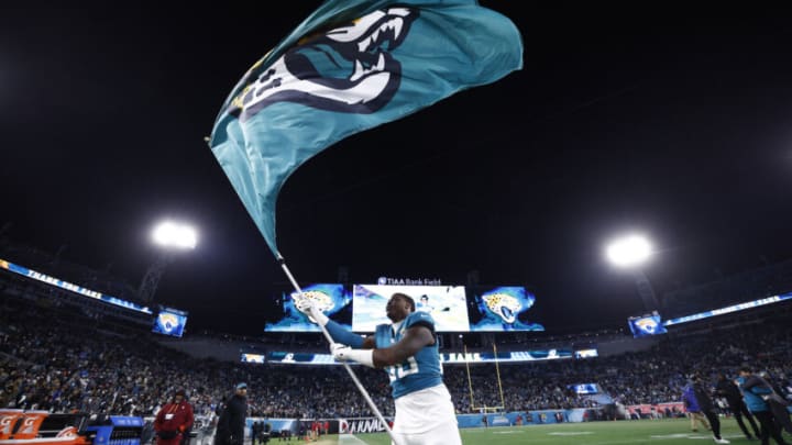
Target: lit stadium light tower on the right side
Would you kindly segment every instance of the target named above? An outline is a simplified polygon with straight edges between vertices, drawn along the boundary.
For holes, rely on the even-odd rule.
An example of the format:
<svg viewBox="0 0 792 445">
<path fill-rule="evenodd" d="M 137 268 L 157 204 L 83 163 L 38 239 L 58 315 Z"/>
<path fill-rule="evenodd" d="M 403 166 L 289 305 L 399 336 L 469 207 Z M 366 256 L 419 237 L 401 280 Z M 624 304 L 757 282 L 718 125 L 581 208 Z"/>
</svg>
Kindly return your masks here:
<svg viewBox="0 0 792 445">
<path fill-rule="evenodd" d="M 659 307 L 654 296 L 654 288 L 652 288 L 649 278 L 640 267 L 649 260 L 651 254 L 651 243 L 645 236 L 637 234 L 617 238 L 610 242 L 605 249 L 605 255 L 610 264 L 629 269 L 632 272 L 638 294 L 644 302 L 644 309 L 647 311 L 657 310 Z"/>
</svg>

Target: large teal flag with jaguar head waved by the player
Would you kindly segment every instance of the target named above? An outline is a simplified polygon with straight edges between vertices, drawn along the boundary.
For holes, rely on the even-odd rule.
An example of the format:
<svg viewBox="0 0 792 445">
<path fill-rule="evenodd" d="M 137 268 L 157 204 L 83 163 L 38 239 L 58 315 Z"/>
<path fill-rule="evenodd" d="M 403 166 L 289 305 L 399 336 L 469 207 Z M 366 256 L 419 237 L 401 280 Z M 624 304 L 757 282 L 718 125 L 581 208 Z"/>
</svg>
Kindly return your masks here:
<svg viewBox="0 0 792 445">
<path fill-rule="evenodd" d="M 211 149 L 279 258 L 277 196 L 308 158 L 521 67 L 517 27 L 475 0 L 328 0 L 234 87 Z"/>
</svg>

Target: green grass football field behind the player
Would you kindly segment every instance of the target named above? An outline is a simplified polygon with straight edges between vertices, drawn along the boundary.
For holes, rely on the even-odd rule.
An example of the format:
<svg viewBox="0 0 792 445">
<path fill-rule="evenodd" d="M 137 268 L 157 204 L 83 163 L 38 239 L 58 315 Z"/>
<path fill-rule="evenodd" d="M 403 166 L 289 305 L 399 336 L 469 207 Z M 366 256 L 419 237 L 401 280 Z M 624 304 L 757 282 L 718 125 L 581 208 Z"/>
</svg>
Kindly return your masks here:
<svg viewBox="0 0 792 445">
<path fill-rule="evenodd" d="M 708 431 L 692 432 L 690 421 L 674 420 L 641 420 L 618 422 L 563 423 L 550 425 L 528 425 L 490 429 L 464 429 L 462 443 L 464 445 L 502 445 L 502 444 L 530 444 L 530 445 L 607 445 L 607 444 L 662 444 L 662 445 L 693 445 L 714 443 Z M 721 434 L 733 444 L 758 444 L 758 441 L 748 441 L 739 431 L 733 419 L 723 419 Z M 787 442 L 792 436 L 784 433 Z M 771 441 L 771 443 L 773 443 Z M 391 441 L 385 433 L 356 434 L 328 436 L 317 445 L 389 445 Z"/>
</svg>

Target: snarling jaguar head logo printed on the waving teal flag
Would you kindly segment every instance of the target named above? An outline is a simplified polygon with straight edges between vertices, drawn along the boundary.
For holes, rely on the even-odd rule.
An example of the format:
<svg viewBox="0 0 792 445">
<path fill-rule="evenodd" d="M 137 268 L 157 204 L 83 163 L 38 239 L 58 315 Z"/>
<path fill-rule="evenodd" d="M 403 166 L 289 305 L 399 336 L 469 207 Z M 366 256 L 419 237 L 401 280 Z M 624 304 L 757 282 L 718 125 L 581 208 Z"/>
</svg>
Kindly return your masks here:
<svg viewBox="0 0 792 445">
<path fill-rule="evenodd" d="M 244 122 L 277 102 L 320 110 L 373 113 L 398 90 L 402 64 L 394 57 L 418 11 L 389 8 L 304 37 L 270 67 L 254 65 L 229 113 Z M 249 78 L 257 75 L 255 80 Z"/>
</svg>

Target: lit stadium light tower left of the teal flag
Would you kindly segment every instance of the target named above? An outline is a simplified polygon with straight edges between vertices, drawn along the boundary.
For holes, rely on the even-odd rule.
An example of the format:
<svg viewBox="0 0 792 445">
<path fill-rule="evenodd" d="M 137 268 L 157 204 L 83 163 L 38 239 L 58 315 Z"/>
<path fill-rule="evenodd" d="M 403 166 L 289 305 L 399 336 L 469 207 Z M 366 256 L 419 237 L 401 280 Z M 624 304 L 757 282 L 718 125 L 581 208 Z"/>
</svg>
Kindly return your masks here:
<svg viewBox="0 0 792 445">
<path fill-rule="evenodd" d="M 148 266 L 141 281 L 138 294 L 144 303 L 151 303 L 160 285 L 160 278 L 167 265 L 173 263 L 174 254 L 180 251 L 191 251 L 198 244 L 198 234 L 189 225 L 163 221 L 152 231 L 152 241 L 161 247 L 157 259 Z"/>
</svg>

